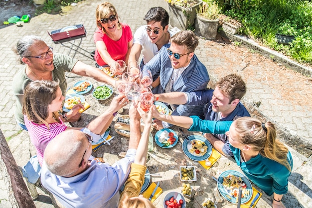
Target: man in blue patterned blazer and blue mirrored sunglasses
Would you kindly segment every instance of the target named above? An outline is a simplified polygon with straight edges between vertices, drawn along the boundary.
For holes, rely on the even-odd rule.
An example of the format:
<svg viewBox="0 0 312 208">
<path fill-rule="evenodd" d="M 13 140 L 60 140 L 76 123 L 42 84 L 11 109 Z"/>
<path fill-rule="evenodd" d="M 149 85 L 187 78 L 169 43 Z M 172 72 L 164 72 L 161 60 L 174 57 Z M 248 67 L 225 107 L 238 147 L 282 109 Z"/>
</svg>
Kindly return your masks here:
<svg viewBox="0 0 312 208">
<path fill-rule="evenodd" d="M 169 41 L 171 44 L 164 45 L 143 68 L 152 72 L 153 81 L 159 76 L 160 84 L 153 89 L 153 92 L 160 94 L 205 90 L 209 82 L 209 75 L 206 67 L 194 54 L 199 43 L 198 38 L 192 31 L 186 30 L 177 32 Z M 173 111 L 172 115 L 203 114 L 203 106 L 171 104 L 170 107 Z M 169 127 L 170 124 L 155 120 L 153 126 L 159 130 Z"/>
</svg>

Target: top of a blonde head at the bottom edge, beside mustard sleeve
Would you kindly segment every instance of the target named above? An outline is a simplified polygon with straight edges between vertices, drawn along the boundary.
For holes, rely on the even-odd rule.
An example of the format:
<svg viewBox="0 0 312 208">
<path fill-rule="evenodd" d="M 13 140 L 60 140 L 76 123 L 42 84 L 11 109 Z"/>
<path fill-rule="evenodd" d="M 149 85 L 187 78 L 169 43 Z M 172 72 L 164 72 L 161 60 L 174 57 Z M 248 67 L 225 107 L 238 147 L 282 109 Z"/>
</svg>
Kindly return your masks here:
<svg viewBox="0 0 312 208">
<path fill-rule="evenodd" d="M 119 202 L 118 208 L 155 208 L 155 206 L 144 197 L 123 196 Z"/>
</svg>

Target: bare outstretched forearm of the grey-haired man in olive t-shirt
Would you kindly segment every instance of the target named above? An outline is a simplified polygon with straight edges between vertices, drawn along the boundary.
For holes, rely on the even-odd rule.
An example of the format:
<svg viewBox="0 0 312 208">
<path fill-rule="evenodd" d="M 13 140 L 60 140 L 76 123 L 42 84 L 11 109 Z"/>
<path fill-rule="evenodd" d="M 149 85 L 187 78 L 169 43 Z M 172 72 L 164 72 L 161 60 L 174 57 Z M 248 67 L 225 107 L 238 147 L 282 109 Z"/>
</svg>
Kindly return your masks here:
<svg viewBox="0 0 312 208">
<path fill-rule="evenodd" d="M 102 70 L 96 67 L 92 67 L 90 65 L 84 64 L 81 61 L 78 61 L 75 64 L 71 72 L 80 76 L 91 77 L 99 82 L 104 82 L 106 84 L 116 87 L 114 78 L 108 76 Z"/>
</svg>

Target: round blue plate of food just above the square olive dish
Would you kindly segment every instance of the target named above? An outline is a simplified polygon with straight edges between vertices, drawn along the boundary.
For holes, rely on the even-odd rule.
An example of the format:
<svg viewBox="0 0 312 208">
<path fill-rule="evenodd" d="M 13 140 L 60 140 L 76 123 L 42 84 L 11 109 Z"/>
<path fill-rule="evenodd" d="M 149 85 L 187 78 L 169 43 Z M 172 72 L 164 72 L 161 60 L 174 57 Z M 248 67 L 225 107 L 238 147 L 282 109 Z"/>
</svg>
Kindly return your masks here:
<svg viewBox="0 0 312 208">
<path fill-rule="evenodd" d="M 192 140 L 203 141 L 206 144 L 206 146 L 207 146 L 207 152 L 204 155 L 202 155 L 202 156 L 198 156 L 195 153 L 190 153 L 189 152 L 189 149 L 192 148 L 192 145 L 188 144 L 186 139 L 184 139 L 183 144 L 182 144 L 182 149 L 183 149 L 184 154 L 189 159 L 195 160 L 195 161 L 203 161 L 203 160 L 206 160 L 207 158 L 210 157 L 210 155 L 212 153 L 212 146 L 211 146 L 210 142 L 205 137 L 199 136 L 199 135 L 190 135 L 187 138 L 190 140 L 190 142 L 192 142 Z"/>
</svg>

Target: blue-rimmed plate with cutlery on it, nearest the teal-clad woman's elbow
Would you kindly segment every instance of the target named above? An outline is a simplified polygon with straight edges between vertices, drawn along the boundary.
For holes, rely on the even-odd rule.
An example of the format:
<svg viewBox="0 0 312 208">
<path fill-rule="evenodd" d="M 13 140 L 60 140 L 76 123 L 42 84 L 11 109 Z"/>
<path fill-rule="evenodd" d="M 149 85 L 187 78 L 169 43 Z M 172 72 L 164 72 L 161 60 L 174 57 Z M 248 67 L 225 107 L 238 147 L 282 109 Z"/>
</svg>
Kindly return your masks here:
<svg viewBox="0 0 312 208">
<path fill-rule="evenodd" d="M 246 202 L 248 202 L 253 194 L 253 190 L 252 190 L 252 186 L 250 181 L 248 180 L 248 178 L 243 175 L 242 173 L 238 172 L 238 171 L 234 171 L 234 170 L 228 170 L 228 171 L 224 171 L 223 173 L 220 174 L 218 181 L 222 184 L 223 183 L 223 177 L 228 176 L 229 174 L 234 175 L 234 176 L 238 176 L 241 177 L 242 180 L 245 182 L 246 186 L 247 186 L 247 190 L 249 191 L 249 195 L 247 195 L 246 198 L 242 198 L 241 203 L 244 204 Z M 225 188 L 219 183 L 217 183 L 218 186 L 218 190 L 220 192 L 220 194 L 229 202 L 231 203 L 236 203 L 236 197 L 232 197 L 230 196 L 227 191 L 225 190 Z M 237 189 L 238 192 L 238 189 Z"/>
</svg>

